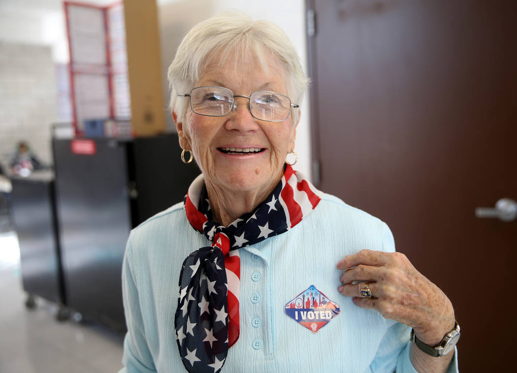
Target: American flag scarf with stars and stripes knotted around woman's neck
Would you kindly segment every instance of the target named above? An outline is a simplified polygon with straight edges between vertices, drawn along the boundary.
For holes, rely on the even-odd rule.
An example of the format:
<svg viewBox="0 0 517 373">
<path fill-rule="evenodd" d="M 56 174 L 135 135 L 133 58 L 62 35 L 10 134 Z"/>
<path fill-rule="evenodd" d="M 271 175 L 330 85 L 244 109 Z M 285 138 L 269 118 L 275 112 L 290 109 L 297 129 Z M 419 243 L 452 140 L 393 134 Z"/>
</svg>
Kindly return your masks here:
<svg viewBox="0 0 517 373">
<path fill-rule="evenodd" d="M 273 192 L 254 211 L 227 227 L 212 221 L 203 176 L 185 197 L 187 219 L 212 243 L 191 253 L 179 275 L 176 341 L 189 372 L 216 373 L 239 338 L 238 248 L 282 234 L 305 218 L 323 193 L 290 165 Z"/>
</svg>

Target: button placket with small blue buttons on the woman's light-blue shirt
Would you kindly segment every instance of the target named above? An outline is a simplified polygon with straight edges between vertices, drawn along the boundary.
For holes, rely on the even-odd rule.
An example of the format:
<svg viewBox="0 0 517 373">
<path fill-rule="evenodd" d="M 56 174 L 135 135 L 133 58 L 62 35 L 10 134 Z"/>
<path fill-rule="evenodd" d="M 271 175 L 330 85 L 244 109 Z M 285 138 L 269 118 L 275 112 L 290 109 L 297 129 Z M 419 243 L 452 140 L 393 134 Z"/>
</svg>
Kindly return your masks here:
<svg viewBox="0 0 517 373">
<path fill-rule="evenodd" d="M 266 360 L 272 360 L 274 355 L 270 258 L 265 257 L 253 246 L 245 246 L 242 249 L 241 262 L 244 261 L 247 265 L 241 266 L 241 282 L 246 282 L 246 286 L 242 286 L 241 289 L 246 289 L 246 293 L 241 293 L 240 298 L 241 302 L 247 303 L 246 306 L 250 307 L 251 312 L 246 313 L 248 320 L 242 320 L 240 323 L 245 323 L 244 327 L 252 330 L 252 337 L 245 343 L 251 344 L 257 353 L 262 351 Z"/>
</svg>

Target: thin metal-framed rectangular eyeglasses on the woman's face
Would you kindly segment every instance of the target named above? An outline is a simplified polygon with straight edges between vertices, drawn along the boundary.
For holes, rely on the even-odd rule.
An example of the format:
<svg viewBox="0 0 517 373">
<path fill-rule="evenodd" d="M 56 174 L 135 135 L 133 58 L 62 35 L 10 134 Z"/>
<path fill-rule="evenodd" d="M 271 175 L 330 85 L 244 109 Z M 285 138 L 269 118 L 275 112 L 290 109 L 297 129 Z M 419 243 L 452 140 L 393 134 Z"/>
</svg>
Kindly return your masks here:
<svg viewBox="0 0 517 373">
<path fill-rule="evenodd" d="M 236 97 L 245 97 L 249 100 L 251 115 L 258 120 L 281 122 L 287 119 L 292 104 L 291 100 L 282 94 L 269 91 L 253 92 L 250 96 L 234 95 L 228 88 L 197 87 L 189 94 L 178 94 L 178 97 L 190 97 L 190 107 L 196 114 L 209 117 L 223 117 L 233 110 L 237 111 Z"/>
</svg>

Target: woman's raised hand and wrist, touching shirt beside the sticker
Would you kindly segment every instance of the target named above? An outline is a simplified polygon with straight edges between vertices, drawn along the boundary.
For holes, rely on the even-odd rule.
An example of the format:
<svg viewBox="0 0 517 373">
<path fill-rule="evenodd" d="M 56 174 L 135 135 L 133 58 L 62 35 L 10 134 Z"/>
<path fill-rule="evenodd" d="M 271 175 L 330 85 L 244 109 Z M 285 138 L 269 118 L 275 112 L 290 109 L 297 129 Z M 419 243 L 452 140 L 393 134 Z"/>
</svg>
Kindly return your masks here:
<svg viewBox="0 0 517 373">
<path fill-rule="evenodd" d="M 404 254 L 361 250 L 346 256 L 337 267 L 347 269 L 338 287 L 341 294 L 354 297 L 361 308 L 376 309 L 385 318 L 412 327 L 423 343 L 436 346 L 454 328 L 450 300 Z M 365 283 L 372 298 L 361 297 Z"/>
</svg>

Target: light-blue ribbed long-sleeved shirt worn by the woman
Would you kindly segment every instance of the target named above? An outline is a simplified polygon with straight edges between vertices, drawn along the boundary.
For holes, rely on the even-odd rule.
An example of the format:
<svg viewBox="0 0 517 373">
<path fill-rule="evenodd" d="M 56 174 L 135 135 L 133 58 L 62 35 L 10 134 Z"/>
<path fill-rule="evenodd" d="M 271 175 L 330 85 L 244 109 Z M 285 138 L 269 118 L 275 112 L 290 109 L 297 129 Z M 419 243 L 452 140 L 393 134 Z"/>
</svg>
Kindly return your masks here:
<svg viewBox="0 0 517 373">
<path fill-rule="evenodd" d="M 183 204 L 132 230 L 123 266 L 127 371 L 185 371 L 174 333 L 179 271 L 185 257 L 207 244 L 190 227 Z M 242 247 L 240 335 L 222 372 L 416 372 L 410 328 L 357 307 L 337 290 L 336 263 L 363 248 L 394 251 L 389 228 L 328 194 L 293 229 Z M 285 314 L 286 303 L 311 285 L 341 309 L 317 333 Z M 455 371 L 454 357 L 449 372 Z"/>
</svg>

